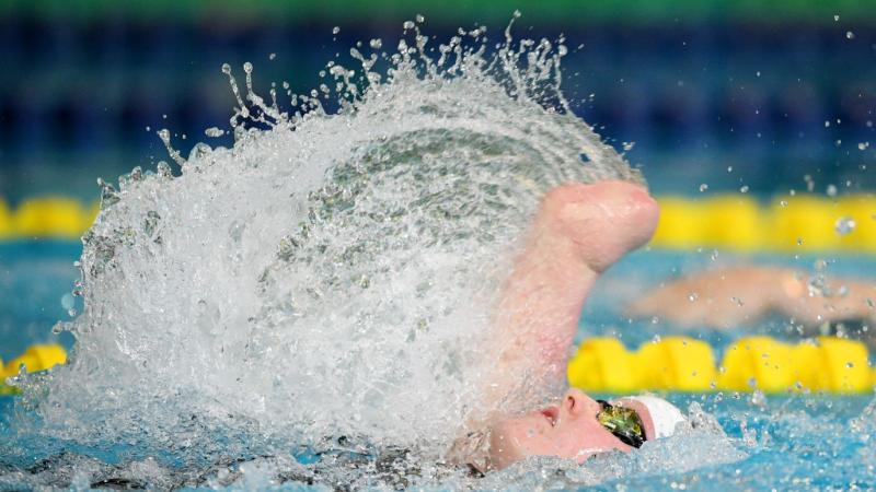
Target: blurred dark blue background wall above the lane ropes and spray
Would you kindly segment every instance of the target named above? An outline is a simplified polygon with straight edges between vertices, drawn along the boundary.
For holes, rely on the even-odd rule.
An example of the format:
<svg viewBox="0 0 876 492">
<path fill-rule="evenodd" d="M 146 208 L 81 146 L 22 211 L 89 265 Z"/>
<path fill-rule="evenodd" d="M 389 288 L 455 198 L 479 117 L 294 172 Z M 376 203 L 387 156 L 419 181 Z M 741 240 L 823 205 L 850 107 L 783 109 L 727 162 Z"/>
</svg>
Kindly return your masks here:
<svg viewBox="0 0 876 492">
<path fill-rule="evenodd" d="M 187 155 L 228 127 L 223 62 L 252 61 L 263 92 L 303 92 L 357 40 L 394 48 L 415 14 L 438 40 L 475 23 L 498 40 L 515 9 L 518 37 L 565 35 L 575 112 L 619 150 L 635 142 L 629 160 L 658 195 L 769 196 L 805 190 L 806 175 L 817 192 L 876 187 L 869 1 L 5 0 L 0 198 L 90 202 L 97 176 L 168 159 L 160 128 Z"/>
</svg>

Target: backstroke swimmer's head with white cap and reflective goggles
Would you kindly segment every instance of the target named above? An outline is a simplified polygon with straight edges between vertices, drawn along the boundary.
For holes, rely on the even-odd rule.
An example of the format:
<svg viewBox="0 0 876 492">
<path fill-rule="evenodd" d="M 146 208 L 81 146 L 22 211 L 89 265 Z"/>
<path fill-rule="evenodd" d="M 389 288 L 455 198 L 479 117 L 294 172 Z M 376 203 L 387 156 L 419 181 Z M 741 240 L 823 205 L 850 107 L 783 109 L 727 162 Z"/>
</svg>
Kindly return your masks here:
<svg viewBox="0 0 876 492">
<path fill-rule="evenodd" d="M 612 411 L 614 417 L 606 414 Z M 661 398 L 626 397 L 604 403 L 570 389 L 557 406 L 494 425 L 489 432 L 489 465 L 502 469 L 527 456 L 558 456 L 583 462 L 599 453 L 629 452 L 641 445 L 630 436 L 637 434 L 638 423 L 644 433 L 641 437 L 652 441 L 672 435 L 676 424 L 683 420 L 681 412 Z M 619 431 L 618 426 L 622 429 Z"/>
</svg>

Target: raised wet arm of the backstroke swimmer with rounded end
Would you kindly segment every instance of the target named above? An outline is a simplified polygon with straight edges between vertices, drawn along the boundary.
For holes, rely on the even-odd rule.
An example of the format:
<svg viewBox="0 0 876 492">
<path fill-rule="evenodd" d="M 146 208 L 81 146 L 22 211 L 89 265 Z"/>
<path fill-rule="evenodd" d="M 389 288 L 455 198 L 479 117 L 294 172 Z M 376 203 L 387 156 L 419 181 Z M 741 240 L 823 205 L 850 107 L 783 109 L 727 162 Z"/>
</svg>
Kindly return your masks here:
<svg viewBox="0 0 876 492">
<path fill-rule="evenodd" d="M 631 183 L 575 183 L 549 191 L 497 309 L 496 326 L 514 341 L 506 361 L 526 358 L 530 367 L 546 368 L 564 382 L 593 282 L 650 238 L 658 215 L 647 190 Z"/>
</svg>

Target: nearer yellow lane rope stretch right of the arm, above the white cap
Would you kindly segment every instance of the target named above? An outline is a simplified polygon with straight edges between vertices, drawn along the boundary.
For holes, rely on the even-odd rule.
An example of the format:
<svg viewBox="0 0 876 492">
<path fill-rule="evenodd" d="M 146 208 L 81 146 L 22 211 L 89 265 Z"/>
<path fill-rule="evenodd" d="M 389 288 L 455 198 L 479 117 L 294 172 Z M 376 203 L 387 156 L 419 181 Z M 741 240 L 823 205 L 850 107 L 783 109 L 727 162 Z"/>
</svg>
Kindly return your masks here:
<svg viewBox="0 0 876 492">
<path fill-rule="evenodd" d="M 822 391 L 872 393 L 876 371 L 864 343 L 819 337 L 788 344 L 746 337 L 715 363 L 712 347 L 689 337 L 664 337 L 629 351 L 614 338 L 584 341 L 568 364 L 572 386 L 587 391 Z"/>
</svg>

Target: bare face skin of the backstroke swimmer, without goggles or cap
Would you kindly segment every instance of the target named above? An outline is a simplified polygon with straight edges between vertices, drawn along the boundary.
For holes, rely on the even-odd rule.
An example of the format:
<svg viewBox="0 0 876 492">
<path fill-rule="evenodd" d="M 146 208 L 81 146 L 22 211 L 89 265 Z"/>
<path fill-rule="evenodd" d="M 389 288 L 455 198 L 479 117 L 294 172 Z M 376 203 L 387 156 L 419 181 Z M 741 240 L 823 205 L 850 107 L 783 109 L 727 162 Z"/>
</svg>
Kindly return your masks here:
<svg viewBox="0 0 876 492">
<path fill-rule="evenodd" d="M 635 410 L 645 425 L 645 437 L 654 438 L 654 423 L 644 405 L 623 399 L 612 405 Z M 493 467 L 502 469 L 527 456 L 558 456 L 583 462 L 598 453 L 633 449 L 597 421 L 599 411 L 596 400 L 570 389 L 557 406 L 499 422 L 492 427 L 489 438 Z"/>
</svg>

